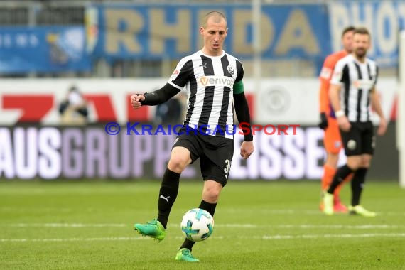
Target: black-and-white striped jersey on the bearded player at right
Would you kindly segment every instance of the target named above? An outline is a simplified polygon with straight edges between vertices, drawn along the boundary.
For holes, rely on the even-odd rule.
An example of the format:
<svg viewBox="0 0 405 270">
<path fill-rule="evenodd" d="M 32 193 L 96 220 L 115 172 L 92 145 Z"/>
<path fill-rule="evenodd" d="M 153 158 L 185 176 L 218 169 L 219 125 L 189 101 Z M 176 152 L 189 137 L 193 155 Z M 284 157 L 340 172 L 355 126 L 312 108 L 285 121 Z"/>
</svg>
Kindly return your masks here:
<svg viewBox="0 0 405 270">
<path fill-rule="evenodd" d="M 336 63 L 330 84 L 342 86 L 340 106 L 349 121 L 371 121 L 370 91 L 377 77 L 377 64 L 369 58 L 361 63 L 350 54 Z"/>
</svg>

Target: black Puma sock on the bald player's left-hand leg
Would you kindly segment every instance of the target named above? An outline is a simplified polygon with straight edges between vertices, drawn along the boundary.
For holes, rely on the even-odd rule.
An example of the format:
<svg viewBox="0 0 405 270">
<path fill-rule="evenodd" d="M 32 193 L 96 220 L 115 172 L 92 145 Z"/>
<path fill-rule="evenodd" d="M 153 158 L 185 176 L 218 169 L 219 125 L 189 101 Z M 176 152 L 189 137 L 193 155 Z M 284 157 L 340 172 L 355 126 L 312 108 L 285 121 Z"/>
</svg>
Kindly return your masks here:
<svg viewBox="0 0 405 270">
<path fill-rule="evenodd" d="M 179 179 L 180 173 L 175 173 L 166 168 L 158 199 L 158 221 L 161 222 L 165 229 L 168 224 L 171 207 L 175 202 L 175 198 L 177 198 Z"/>
</svg>

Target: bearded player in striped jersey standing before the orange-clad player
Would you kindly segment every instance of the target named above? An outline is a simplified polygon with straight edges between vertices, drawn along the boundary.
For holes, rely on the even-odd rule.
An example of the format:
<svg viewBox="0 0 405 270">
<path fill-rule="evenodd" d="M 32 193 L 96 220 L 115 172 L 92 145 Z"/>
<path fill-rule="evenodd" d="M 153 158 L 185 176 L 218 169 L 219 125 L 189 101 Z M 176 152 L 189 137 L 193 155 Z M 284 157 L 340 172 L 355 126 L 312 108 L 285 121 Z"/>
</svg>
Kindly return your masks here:
<svg viewBox="0 0 405 270">
<path fill-rule="evenodd" d="M 354 173 L 350 214 L 365 217 L 376 215 L 360 205 L 360 195 L 375 146 L 370 104 L 379 116 L 377 135 L 382 136 L 387 130 L 387 121 L 376 92 L 377 64 L 367 58 L 370 39 L 367 28 L 355 29 L 353 52 L 338 61 L 330 81 L 330 102 L 338 119 L 347 163 L 336 171 L 332 183 L 323 195 L 323 212 L 326 215 L 333 215 L 335 189 L 350 173 Z"/>
</svg>

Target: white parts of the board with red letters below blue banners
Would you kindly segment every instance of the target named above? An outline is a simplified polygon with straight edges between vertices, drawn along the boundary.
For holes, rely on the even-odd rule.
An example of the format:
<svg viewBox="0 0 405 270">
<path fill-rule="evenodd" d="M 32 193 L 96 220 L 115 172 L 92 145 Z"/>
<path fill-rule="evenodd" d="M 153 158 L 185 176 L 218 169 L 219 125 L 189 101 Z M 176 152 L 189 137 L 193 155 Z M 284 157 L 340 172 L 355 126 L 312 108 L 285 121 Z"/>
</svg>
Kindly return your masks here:
<svg viewBox="0 0 405 270">
<path fill-rule="evenodd" d="M 52 107 L 41 119 L 41 124 L 59 124 L 58 104 L 71 85 L 77 85 L 85 95 L 104 95 L 112 105 L 111 117 L 119 123 L 128 121 L 128 95 L 136 92 L 151 92 L 166 83 L 166 79 L 33 79 L 0 80 L 0 125 L 16 124 L 23 114 L 21 109 L 5 109 L 4 98 L 26 99 L 26 95 L 48 95 L 53 99 Z M 247 95 L 252 97 L 251 111 L 257 124 L 316 125 L 319 121 L 318 87 L 316 78 L 274 78 L 261 80 L 261 90 L 255 91 L 255 81 L 244 79 Z M 384 114 L 389 118 L 398 84 L 395 78 L 382 78 L 377 89 L 382 98 Z M 26 99 L 25 102 L 31 102 Z M 153 118 L 153 107 L 149 108 Z M 95 104 L 90 103 L 90 119 L 99 120 Z M 378 117 L 375 119 L 377 124 Z"/>
</svg>

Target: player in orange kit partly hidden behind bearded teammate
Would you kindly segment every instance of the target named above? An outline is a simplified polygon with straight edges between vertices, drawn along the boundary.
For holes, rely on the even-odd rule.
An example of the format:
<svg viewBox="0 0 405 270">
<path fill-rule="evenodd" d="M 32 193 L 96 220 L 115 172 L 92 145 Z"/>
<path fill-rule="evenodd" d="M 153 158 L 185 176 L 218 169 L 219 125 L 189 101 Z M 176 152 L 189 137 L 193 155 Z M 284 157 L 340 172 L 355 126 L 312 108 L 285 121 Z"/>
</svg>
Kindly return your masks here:
<svg viewBox="0 0 405 270">
<path fill-rule="evenodd" d="M 320 104 L 320 124 L 319 127 L 325 131 L 323 136 L 323 145 L 325 146 L 326 159 L 323 164 L 323 177 L 321 180 L 322 193 L 332 183 L 333 175 L 336 173 L 338 167 L 339 153 L 342 148 L 342 139 L 340 138 L 338 121 L 335 117 L 335 112 L 329 102 L 329 86 L 330 78 L 332 77 L 333 70 L 338 60 L 344 58 L 347 54 L 352 53 L 352 38 L 355 28 L 348 26 L 342 31 L 342 45 L 343 50 L 337 53 L 328 55 L 323 63 L 322 70 L 320 71 L 320 91 L 319 91 L 319 104 Z M 351 178 L 349 175 L 348 178 Z M 347 212 L 347 207 L 340 201 L 340 190 L 342 185 L 339 185 L 335 190 L 334 197 L 334 210 L 335 212 Z M 323 210 L 323 202 L 320 202 L 320 210 Z"/>
</svg>

